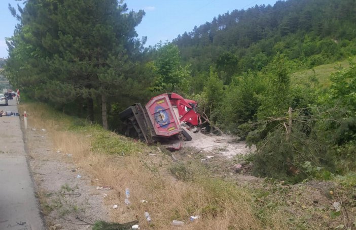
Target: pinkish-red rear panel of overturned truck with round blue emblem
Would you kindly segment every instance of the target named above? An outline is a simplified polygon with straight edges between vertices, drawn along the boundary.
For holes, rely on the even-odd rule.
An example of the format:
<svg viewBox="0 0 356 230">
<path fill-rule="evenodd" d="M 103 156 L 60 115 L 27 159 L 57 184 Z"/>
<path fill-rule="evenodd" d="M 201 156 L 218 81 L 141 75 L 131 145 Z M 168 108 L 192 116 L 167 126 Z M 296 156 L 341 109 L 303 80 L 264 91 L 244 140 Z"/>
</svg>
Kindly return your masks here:
<svg viewBox="0 0 356 230">
<path fill-rule="evenodd" d="M 146 111 L 157 135 L 169 137 L 182 132 L 167 94 L 152 98 Z"/>
</svg>

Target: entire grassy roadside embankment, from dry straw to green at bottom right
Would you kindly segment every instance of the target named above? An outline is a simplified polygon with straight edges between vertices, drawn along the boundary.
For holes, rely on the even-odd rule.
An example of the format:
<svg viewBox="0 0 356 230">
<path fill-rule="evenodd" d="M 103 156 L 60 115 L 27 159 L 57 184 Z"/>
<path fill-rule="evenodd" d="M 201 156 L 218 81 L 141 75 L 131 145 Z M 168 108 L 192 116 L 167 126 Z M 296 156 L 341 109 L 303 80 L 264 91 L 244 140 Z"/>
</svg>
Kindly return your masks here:
<svg viewBox="0 0 356 230">
<path fill-rule="evenodd" d="M 29 127 L 48 130 L 53 149 L 72 154 L 78 166 L 99 178 L 102 185 L 113 187 L 105 204 L 124 206 L 124 191 L 130 188 L 132 205 L 122 212 L 113 210 L 108 217 L 111 221 L 128 222 L 137 215 L 141 228 L 147 229 L 145 211 L 153 219 L 150 229 L 175 229 L 173 219 L 187 222 L 182 229 L 211 230 L 325 229 L 342 221 L 342 217 L 331 219 L 329 207 L 320 207 L 332 197 L 330 201 L 324 197 L 315 205 L 308 198 L 315 194 L 304 185 L 265 180 L 260 185 L 244 186 L 239 181 L 211 178 L 199 159 L 174 163 L 169 152 L 133 142 L 44 105 L 21 104 L 20 110 L 27 111 Z M 336 188 L 325 188 L 323 193 L 329 189 Z M 190 215 L 201 218 L 189 222 Z"/>
</svg>

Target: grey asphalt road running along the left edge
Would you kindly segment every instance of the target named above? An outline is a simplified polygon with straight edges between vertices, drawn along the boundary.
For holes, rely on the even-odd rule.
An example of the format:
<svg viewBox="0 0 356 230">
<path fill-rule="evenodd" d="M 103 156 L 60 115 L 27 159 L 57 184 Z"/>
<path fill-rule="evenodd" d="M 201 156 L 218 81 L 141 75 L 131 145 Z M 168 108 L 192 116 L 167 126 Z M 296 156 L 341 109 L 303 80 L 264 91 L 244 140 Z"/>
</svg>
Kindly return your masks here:
<svg viewBox="0 0 356 230">
<path fill-rule="evenodd" d="M 16 100 L 0 110 L 18 112 Z M 28 169 L 20 117 L 0 117 L 0 230 L 45 229 Z"/>
</svg>

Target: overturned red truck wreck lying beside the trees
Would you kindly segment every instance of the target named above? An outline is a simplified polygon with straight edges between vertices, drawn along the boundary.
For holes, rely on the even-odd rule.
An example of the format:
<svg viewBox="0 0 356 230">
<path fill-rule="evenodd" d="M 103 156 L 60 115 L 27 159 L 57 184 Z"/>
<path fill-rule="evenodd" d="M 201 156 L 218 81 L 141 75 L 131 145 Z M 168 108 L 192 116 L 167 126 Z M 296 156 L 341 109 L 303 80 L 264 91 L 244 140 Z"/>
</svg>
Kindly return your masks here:
<svg viewBox="0 0 356 230">
<path fill-rule="evenodd" d="M 126 126 L 125 135 L 136 137 L 148 144 L 169 143 L 169 148 L 182 148 L 183 138 L 192 137 L 181 124 L 197 126 L 200 116 L 198 104 L 175 93 L 162 94 L 151 98 L 145 107 L 137 103 L 119 114 Z"/>
</svg>

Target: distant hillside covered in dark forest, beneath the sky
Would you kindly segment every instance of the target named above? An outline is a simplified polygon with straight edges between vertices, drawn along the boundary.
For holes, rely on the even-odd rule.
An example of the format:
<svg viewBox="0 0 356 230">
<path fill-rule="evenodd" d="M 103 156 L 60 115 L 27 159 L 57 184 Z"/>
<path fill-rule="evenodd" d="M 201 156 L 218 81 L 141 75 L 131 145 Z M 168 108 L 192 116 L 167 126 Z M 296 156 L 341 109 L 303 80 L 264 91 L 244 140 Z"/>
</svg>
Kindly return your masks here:
<svg viewBox="0 0 356 230">
<path fill-rule="evenodd" d="M 233 74 L 262 70 L 277 52 L 293 60 L 297 69 L 356 55 L 355 21 L 353 0 L 278 1 L 274 6 L 231 9 L 173 43 L 194 75 L 214 65 L 228 84 Z"/>
</svg>

